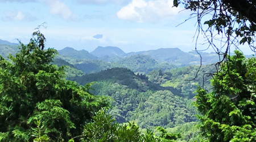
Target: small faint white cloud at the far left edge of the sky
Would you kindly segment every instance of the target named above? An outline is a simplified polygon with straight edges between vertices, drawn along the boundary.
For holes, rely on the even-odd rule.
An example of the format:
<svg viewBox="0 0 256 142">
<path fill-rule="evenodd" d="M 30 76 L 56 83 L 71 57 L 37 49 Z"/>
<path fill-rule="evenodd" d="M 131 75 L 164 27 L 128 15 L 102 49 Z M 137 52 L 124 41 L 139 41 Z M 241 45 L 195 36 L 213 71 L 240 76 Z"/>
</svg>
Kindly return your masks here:
<svg viewBox="0 0 256 142">
<path fill-rule="evenodd" d="M 2 17 L 3 21 L 34 21 L 36 18 L 28 13 L 21 11 L 6 11 L 5 16 Z"/>
</svg>

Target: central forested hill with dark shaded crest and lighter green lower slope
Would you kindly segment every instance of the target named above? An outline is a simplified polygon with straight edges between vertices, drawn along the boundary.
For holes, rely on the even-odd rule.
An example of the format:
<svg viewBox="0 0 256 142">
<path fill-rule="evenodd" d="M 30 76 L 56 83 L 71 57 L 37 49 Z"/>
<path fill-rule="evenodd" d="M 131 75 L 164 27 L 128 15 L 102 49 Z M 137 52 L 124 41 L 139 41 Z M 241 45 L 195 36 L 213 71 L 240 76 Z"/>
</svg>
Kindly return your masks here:
<svg viewBox="0 0 256 142">
<path fill-rule="evenodd" d="M 112 114 L 119 123 L 137 121 L 143 128 L 174 127 L 196 121 L 195 109 L 172 87 L 161 87 L 127 68 L 111 68 L 72 78 L 81 85 L 96 81 L 91 92 L 112 98 Z M 152 119 L 154 118 L 154 119 Z"/>
</svg>

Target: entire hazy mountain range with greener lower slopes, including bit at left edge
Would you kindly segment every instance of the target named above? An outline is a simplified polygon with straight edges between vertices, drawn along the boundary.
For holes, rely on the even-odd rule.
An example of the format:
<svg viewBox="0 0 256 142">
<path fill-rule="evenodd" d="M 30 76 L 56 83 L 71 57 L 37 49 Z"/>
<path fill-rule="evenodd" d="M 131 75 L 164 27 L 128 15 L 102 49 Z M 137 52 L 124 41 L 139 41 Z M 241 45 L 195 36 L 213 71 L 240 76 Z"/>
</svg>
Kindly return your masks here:
<svg viewBox="0 0 256 142">
<path fill-rule="evenodd" d="M 0 40 L 0 54 L 6 58 L 8 54 L 18 51 L 18 44 Z M 200 53 L 202 64 L 218 61 L 216 53 Z M 200 64 L 200 55 L 196 52 L 184 52 L 179 48 L 160 48 L 156 50 L 125 53 L 114 46 L 98 46 L 92 52 L 64 48 L 59 50 L 56 58 L 63 59 L 84 73 L 99 72 L 113 67 L 126 67 L 134 72 L 147 74 L 152 70 L 171 70 L 176 67 L 184 67 Z"/>
</svg>

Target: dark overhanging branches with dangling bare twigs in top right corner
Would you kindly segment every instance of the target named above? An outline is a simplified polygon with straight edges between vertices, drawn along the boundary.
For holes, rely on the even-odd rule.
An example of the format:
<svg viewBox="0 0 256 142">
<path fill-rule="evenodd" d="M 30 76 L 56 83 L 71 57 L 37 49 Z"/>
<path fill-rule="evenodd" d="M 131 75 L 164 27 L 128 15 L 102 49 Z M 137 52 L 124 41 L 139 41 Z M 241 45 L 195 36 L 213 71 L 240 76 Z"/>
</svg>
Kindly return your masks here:
<svg viewBox="0 0 256 142">
<path fill-rule="evenodd" d="M 192 17 L 197 18 L 198 34 L 202 32 L 209 46 L 216 53 L 224 55 L 222 61 L 228 59 L 229 49 L 232 46 L 238 48 L 238 44 L 247 43 L 255 53 L 255 0 L 174 0 L 174 6 L 181 4 L 185 9 L 195 12 Z M 202 24 L 207 25 L 206 28 Z M 216 44 L 220 38 L 221 46 Z M 226 50 L 222 53 L 221 49 Z"/>
</svg>

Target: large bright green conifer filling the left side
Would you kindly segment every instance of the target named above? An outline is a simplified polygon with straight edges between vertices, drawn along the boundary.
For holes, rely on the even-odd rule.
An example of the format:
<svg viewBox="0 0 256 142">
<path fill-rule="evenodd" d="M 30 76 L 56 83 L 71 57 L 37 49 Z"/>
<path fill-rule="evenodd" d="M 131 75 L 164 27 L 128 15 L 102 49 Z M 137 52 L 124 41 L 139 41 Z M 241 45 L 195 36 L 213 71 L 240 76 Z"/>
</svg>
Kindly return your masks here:
<svg viewBox="0 0 256 142">
<path fill-rule="evenodd" d="M 82 134 L 106 98 L 90 94 L 89 85 L 65 80 L 64 67 L 50 64 L 57 53 L 43 50 L 45 38 L 36 31 L 19 51 L 0 56 L 0 140 L 68 141 Z"/>
</svg>

